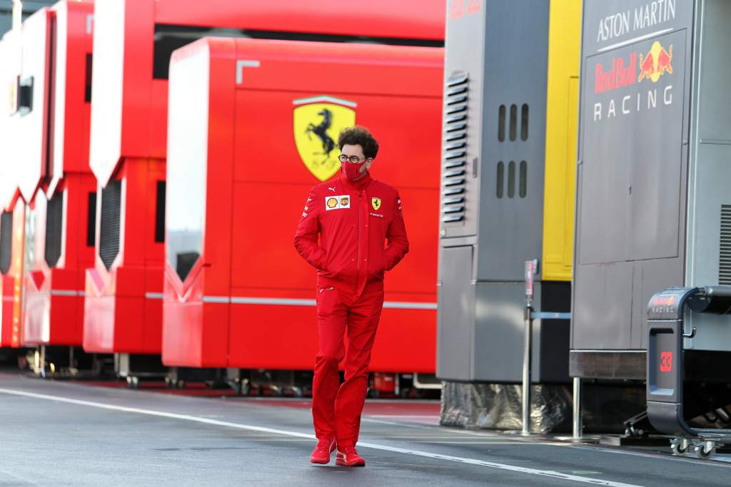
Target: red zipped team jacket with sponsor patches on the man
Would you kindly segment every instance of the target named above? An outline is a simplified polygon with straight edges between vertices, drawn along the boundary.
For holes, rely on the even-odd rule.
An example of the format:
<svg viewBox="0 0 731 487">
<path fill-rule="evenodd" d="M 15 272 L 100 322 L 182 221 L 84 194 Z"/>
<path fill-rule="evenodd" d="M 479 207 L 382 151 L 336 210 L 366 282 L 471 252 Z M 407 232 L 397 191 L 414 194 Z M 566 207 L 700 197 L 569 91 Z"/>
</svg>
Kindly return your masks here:
<svg viewBox="0 0 731 487">
<path fill-rule="evenodd" d="M 315 186 L 295 248 L 317 269 L 318 287 L 340 287 L 356 296 L 366 284 L 369 290 L 382 288 L 384 272 L 409 251 L 398 191 L 370 174 L 355 183 L 341 175 Z"/>
</svg>

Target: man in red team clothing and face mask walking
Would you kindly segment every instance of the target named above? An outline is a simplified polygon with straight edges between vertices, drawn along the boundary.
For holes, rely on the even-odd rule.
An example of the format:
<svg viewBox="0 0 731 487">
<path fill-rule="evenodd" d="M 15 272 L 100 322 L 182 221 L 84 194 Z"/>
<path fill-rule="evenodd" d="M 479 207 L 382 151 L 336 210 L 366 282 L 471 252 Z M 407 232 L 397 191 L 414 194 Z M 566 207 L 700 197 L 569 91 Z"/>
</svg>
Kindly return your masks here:
<svg viewBox="0 0 731 487">
<path fill-rule="evenodd" d="M 336 464 L 363 467 L 355 444 L 383 307 L 383 275 L 404 258 L 409 241 L 398 191 L 368 172 L 378 153 L 371 132 L 344 129 L 338 146 L 341 175 L 312 188 L 295 234 L 300 256 L 317 269 L 319 353 L 312 384 L 317 446 L 310 461 L 327 464 L 337 448 Z"/>
</svg>

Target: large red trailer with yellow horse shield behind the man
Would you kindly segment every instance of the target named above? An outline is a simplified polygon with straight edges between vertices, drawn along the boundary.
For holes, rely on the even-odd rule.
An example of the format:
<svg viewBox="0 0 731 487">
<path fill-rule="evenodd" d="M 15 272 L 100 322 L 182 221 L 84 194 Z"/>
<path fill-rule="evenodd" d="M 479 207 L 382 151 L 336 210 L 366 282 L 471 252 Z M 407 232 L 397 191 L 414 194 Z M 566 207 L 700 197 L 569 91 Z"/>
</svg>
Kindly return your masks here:
<svg viewBox="0 0 731 487">
<path fill-rule="evenodd" d="M 311 186 L 338 177 L 338 132 L 358 123 L 379 139 L 371 172 L 400 191 L 411 242 L 386 277 L 371 369 L 433 372 L 442 58 L 243 39 L 175 53 L 165 364 L 311 368 L 315 272 L 292 236 Z"/>
</svg>

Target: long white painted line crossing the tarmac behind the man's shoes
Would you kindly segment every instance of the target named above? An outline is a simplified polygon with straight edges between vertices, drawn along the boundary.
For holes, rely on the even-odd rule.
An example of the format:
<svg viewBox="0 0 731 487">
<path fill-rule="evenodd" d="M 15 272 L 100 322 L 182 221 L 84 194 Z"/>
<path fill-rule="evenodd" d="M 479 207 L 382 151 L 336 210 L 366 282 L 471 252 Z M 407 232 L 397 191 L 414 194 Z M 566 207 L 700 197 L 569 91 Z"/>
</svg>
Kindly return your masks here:
<svg viewBox="0 0 731 487">
<path fill-rule="evenodd" d="M 6 389 L 6 388 L 0 388 L 0 393 L 10 394 L 12 396 L 24 396 L 24 397 L 33 397 L 35 399 L 45 399 L 47 401 L 66 402 L 67 404 L 78 404 L 80 406 L 97 407 L 99 409 L 121 411 L 124 413 L 136 413 L 136 414 L 143 414 L 143 415 L 148 415 L 148 416 L 158 416 L 161 418 L 171 418 L 171 419 L 179 419 L 179 420 L 183 420 L 183 421 L 192 421 L 194 423 L 210 424 L 212 426 L 225 426 L 227 428 L 245 429 L 245 430 L 251 431 L 251 432 L 281 434 L 283 436 L 295 437 L 295 438 L 308 438 L 311 440 L 315 439 L 314 434 L 292 432 L 292 431 L 287 431 L 284 429 L 265 428 L 264 426 L 254 426 L 254 425 L 249 425 L 249 424 L 230 423 L 229 421 L 219 421 L 217 419 L 200 418 L 199 416 L 192 416 L 192 415 L 187 415 L 187 414 L 167 413 L 165 411 L 140 409 L 138 407 L 116 406 L 114 404 L 105 404 L 103 402 L 83 401 L 81 399 L 71 399 L 68 397 L 51 396 L 48 394 L 37 394 L 34 392 L 26 392 L 26 391 L 15 391 L 13 389 Z M 494 469 L 501 469 L 501 470 L 507 470 L 510 472 L 524 473 L 527 475 L 537 475 L 539 477 L 559 478 L 562 480 L 572 480 L 574 482 L 580 482 L 580 483 L 591 483 L 596 486 L 639 487 L 639 486 L 629 484 L 629 483 L 613 482 L 611 480 L 603 480 L 603 479 L 591 478 L 591 477 L 580 477 L 578 475 L 564 474 L 561 472 L 556 472 L 554 470 L 531 469 L 531 468 L 527 468 L 527 467 L 518 467 L 517 465 L 499 464 L 494 461 L 466 459 L 461 456 L 442 455 L 441 453 L 431 453 L 428 451 L 412 450 L 410 448 L 398 448 L 398 447 L 387 446 L 387 445 L 378 445 L 376 443 L 370 443 L 370 442 L 358 442 L 358 446 L 360 446 L 362 448 L 372 448 L 374 450 L 390 451 L 393 453 L 404 453 L 405 455 L 421 456 L 421 457 L 425 457 L 428 459 L 456 461 L 456 462 L 462 463 L 462 464 L 478 465 L 480 467 L 491 467 Z"/>
</svg>

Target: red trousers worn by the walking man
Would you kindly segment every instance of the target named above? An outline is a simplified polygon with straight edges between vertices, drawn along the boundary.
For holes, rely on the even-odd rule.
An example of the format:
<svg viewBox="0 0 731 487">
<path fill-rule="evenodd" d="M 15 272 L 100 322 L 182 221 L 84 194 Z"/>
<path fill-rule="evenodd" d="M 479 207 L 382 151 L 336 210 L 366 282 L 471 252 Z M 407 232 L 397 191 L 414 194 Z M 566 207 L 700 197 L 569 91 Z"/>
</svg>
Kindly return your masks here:
<svg viewBox="0 0 731 487">
<path fill-rule="evenodd" d="M 383 307 L 382 282 L 377 284 L 366 286 L 361 296 L 333 287 L 317 288 L 319 353 L 312 382 L 312 420 L 315 436 L 334 435 L 338 447 L 355 446 L 360 432 L 368 364 Z M 343 358 L 345 382 L 341 384 L 338 364 Z"/>
</svg>

